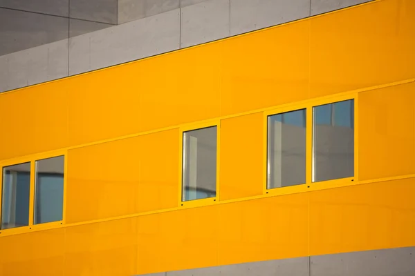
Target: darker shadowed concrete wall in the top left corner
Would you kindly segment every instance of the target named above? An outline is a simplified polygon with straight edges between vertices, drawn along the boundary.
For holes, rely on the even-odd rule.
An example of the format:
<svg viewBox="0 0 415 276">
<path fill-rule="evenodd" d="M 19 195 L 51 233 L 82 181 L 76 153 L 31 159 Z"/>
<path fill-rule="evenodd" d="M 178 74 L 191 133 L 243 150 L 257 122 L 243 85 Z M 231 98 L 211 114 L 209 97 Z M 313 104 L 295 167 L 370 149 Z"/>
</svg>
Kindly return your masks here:
<svg viewBox="0 0 415 276">
<path fill-rule="evenodd" d="M 118 0 L 0 0 L 0 55 L 117 23 Z"/>
</svg>

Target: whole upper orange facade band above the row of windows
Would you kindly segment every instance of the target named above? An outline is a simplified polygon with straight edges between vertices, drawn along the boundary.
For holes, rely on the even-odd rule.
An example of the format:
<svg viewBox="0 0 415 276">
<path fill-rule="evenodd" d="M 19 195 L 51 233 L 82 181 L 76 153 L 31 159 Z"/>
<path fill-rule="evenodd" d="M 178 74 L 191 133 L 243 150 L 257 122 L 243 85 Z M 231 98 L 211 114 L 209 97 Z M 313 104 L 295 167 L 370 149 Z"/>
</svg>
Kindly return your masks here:
<svg viewBox="0 0 415 276">
<path fill-rule="evenodd" d="M 3 93 L 13 151 L 0 159 L 410 79 L 414 5 L 375 1 Z"/>
</svg>

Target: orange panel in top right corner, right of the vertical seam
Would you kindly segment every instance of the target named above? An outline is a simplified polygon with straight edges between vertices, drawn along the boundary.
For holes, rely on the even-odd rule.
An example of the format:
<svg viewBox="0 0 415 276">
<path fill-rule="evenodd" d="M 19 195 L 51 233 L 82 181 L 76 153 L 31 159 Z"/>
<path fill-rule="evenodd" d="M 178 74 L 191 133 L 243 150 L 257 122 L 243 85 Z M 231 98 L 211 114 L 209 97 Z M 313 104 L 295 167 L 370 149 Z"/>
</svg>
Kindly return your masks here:
<svg viewBox="0 0 415 276">
<path fill-rule="evenodd" d="M 414 10 L 387 0 L 311 19 L 310 97 L 414 77 Z"/>
</svg>

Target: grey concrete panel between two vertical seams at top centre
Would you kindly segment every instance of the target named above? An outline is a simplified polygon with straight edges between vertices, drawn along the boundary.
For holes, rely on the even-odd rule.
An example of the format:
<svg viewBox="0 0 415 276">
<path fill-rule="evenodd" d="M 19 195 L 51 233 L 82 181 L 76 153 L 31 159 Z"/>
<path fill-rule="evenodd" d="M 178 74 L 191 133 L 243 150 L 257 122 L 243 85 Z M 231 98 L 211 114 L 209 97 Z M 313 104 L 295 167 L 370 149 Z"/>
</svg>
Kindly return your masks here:
<svg viewBox="0 0 415 276">
<path fill-rule="evenodd" d="M 181 48 L 229 36 L 229 0 L 209 0 L 181 8 Z"/>
</svg>

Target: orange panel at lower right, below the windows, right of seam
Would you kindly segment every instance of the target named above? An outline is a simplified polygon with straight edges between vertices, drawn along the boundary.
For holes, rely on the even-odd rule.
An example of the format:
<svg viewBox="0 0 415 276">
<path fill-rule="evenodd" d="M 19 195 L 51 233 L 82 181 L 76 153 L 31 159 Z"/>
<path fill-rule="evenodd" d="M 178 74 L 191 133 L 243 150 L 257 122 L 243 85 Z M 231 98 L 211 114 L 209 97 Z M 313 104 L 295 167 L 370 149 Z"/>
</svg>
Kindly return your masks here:
<svg viewBox="0 0 415 276">
<path fill-rule="evenodd" d="M 415 178 L 310 193 L 310 255 L 415 246 Z"/>
</svg>

